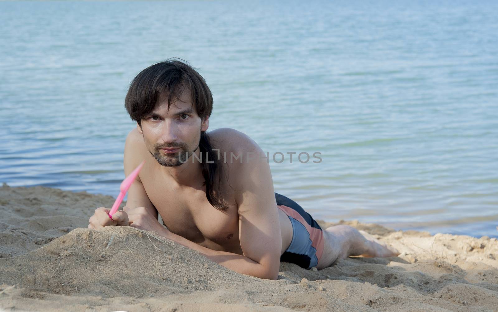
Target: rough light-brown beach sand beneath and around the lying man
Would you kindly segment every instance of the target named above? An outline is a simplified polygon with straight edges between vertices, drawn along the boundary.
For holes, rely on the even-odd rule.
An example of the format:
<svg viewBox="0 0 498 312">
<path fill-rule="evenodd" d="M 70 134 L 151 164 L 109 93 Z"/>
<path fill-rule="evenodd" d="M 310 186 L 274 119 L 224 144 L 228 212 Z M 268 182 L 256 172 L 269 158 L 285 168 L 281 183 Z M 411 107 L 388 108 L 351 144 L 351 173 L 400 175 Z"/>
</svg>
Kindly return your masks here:
<svg viewBox="0 0 498 312">
<path fill-rule="evenodd" d="M 348 258 L 320 271 L 283 262 L 278 280 L 270 281 L 235 273 L 153 232 L 87 229 L 93 211 L 113 202 L 111 196 L 4 184 L 0 309 L 498 311 L 496 238 L 342 222 L 401 255 Z"/>
</svg>

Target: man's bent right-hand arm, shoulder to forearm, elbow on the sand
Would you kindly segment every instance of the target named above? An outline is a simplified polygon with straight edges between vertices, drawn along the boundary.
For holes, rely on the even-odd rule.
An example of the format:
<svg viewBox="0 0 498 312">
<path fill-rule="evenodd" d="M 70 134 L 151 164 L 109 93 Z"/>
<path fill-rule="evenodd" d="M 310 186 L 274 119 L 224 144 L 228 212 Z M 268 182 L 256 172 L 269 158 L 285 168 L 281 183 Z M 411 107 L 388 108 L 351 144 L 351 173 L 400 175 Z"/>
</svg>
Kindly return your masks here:
<svg viewBox="0 0 498 312">
<path fill-rule="evenodd" d="M 237 188 L 241 191 L 236 195 L 236 202 L 239 205 L 239 237 L 244 255 L 206 248 L 167 229 L 159 234 L 195 249 L 201 255 L 233 271 L 276 280 L 280 266 L 282 238 L 273 180 L 269 164 L 259 160 L 258 155 L 262 155 L 261 149 L 252 140 L 250 141 L 249 149 L 244 149 L 244 157 L 249 151 L 254 153 L 256 159 L 250 162 L 243 161 L 242 164 L 238 164 L 237 170 L 237 176 L 242 182 L 241 187 Z"/>
</svg>

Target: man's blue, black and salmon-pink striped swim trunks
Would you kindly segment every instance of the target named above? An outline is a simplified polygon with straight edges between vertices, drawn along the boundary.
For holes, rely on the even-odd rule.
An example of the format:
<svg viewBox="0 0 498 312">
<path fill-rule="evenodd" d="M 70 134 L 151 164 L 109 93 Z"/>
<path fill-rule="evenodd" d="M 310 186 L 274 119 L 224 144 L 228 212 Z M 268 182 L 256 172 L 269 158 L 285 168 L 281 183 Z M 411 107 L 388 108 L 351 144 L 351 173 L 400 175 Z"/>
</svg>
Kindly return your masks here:
<svg viewBox="0 0 498 312">
<path fill-rule="evenodd" d="M 310 214 L 295 201 L 275 193 L 278 209 L 292 224 L 292 240 L 280 256 L 280 261 L 291 262 L 305 269 L 316 267 L 323 253 L 323 231 Z"/>
</svg>

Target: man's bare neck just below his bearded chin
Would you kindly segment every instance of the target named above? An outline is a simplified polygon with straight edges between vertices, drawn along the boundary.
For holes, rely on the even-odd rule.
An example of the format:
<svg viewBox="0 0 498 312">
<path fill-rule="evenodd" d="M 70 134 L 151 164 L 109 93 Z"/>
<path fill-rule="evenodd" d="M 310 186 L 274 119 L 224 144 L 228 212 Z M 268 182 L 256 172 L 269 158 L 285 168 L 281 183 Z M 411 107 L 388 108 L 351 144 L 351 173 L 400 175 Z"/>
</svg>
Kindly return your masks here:
<svg viewBox="0 0 498 312">
<path fill-rule="evenodd" d="M 200 149 L 198 148 L 194 152 L 194 155 L 191 155 L 185 163 L 177 167 L 166 167 L 158 164 L 160 167 L 159 170 L 167 177 L 168 181 L 176 184 L 176 187 L 199 189 L 204 183 L 201 169 L 202 164 L 198 160 L 200 154 Z M 192 159 L 194 159 L 193 162 Z"/>
</svg>

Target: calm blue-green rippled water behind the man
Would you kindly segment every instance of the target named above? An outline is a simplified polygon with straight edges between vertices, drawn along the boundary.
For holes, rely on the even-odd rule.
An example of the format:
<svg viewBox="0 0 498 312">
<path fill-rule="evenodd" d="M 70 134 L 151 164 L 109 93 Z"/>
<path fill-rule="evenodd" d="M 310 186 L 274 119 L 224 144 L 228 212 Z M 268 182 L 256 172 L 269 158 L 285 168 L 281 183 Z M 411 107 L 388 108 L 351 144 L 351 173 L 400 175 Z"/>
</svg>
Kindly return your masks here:
<svg viewBox="0 0 498 312">
<path fill-rule="evenodd" d="M 214 94 L 211 130 L 321 153 L 271 163 L 315 218 L 497 236 L 497 8 L 2 1 L 0 182 L 117 196 L 128 84 L 180 57 Z"/>
</svg>

